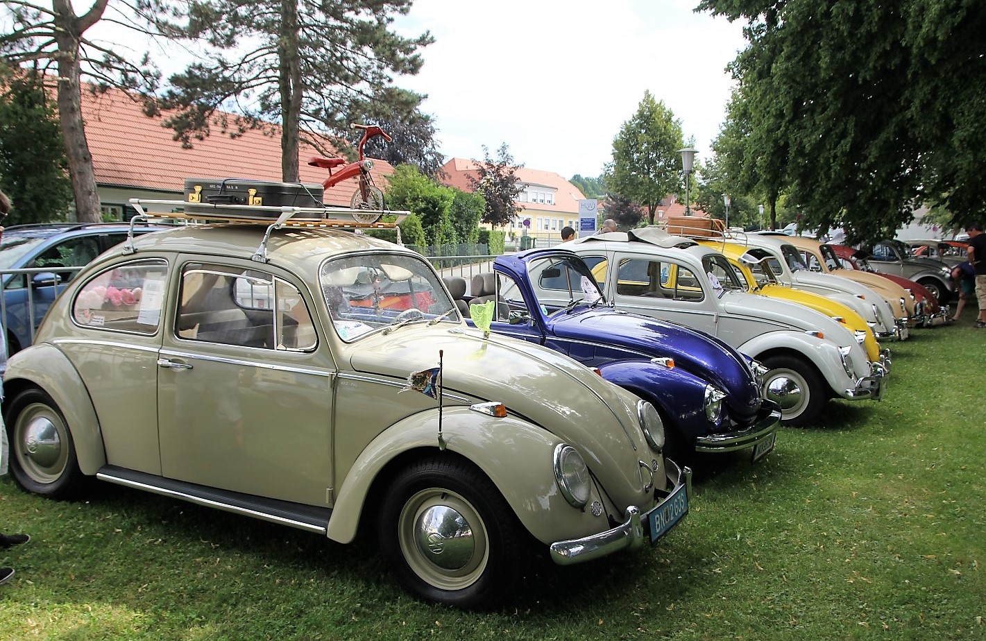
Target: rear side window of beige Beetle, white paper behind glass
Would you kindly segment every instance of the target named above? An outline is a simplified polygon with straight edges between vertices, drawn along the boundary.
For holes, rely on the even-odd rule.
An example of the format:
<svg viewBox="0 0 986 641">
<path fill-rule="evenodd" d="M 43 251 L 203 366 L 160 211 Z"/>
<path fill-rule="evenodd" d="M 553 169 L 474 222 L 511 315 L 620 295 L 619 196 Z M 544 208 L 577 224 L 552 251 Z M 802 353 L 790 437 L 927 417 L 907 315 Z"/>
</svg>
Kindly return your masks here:
<svg viewBox="0 0 986 641">
<path fill-rule="evenodd" d="M 153 334 L 161 323 L 168 263 L 116 265 L 90 279 L 72 305 L 72 319 L 87 327 Z"/>
</svg>

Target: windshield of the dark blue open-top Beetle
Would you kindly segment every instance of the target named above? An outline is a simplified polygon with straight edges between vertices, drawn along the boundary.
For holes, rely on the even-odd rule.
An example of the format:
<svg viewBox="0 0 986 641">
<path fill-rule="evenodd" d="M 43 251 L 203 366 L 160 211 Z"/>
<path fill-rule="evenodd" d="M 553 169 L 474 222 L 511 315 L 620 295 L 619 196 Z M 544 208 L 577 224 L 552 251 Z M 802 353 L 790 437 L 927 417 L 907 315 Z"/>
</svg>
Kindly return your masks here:
<svg viewBox="0 0 986 641">
<path fill-rule="evenodd" d="M 531 260 L 528 278 L 537 304 L 545 314 L 579 304 L 605 304 L 599 285 L 582 258 L 551 256 Z"/>
</svg>

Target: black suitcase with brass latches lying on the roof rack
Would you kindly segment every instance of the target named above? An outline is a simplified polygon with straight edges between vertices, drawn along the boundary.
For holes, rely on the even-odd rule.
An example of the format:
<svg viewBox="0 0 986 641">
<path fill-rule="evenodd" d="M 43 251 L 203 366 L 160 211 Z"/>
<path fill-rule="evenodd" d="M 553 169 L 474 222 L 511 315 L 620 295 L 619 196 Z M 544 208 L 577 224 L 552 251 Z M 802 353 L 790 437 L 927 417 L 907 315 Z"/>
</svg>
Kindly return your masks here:
<svg viewBox="0 0 986 641">
<path fill-rule="evenodd" d="M 265 182 L 247 178 L 185 178 L 185 202 L 200 202 L 202 205 L 236 205 L 236 209 L 196 207 L 186 205 L 185 212 L 208 214 L 217 218 L 231 216 L 236 218 L 276 219 L 280 212 L 251 209 L 262 207 L 316 207 L 324 208 L 321 202 L 322 186 L 302 182 Z M 305 217 L 311 218 L 313 214 Z"/>
</svg>

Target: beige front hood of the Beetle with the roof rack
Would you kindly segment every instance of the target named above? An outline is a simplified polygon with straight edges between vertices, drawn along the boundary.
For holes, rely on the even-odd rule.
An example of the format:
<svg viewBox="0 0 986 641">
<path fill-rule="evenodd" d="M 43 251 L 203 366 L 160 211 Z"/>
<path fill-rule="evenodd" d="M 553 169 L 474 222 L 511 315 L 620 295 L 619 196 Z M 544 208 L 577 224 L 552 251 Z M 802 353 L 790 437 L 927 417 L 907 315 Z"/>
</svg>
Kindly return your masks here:
<svg viewBox="0 0 986 641">
<path fill-rule="evenodd" d="M 507 336 L 483 338 L 478 329 L 438 330 L 424 323 L 352 347 L 353 370 L 395 380 L 436 367 L 442 351 L 446 405 L 462 404 L 451 394 L 469 396 L 467 403 L 503 401 L 508 411 L 577 447 L 614 498 L 645 500 L 636 496 L 638 460 L 654 455 L 637 418 L 639 398 L 575 360 Z"/>
</svg>

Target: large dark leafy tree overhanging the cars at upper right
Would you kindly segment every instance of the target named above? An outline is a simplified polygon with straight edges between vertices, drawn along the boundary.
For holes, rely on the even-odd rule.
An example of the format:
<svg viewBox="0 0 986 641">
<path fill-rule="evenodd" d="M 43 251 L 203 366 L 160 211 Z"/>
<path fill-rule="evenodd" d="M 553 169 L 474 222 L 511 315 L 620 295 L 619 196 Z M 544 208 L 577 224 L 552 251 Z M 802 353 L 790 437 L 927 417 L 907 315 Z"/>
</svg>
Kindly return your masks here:
<svg viewBox="0 0 986 641">
<path fill-rule="evenodd" d="M 964 0 L 702 0 L 749 26 L 734 67 L 749 128 L 808 228 L 876 240 L 939 202 L 986 209 L 986 10 Z M 761 159 L 762 160 L 762 159 Z M 751 159 L 747 162 L 751 162 Z M 782 190 L 783 191 L 783 190 Z"/>
</svg>

